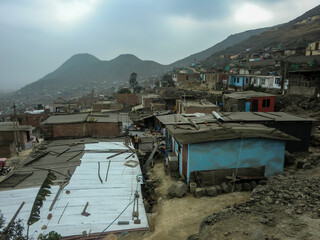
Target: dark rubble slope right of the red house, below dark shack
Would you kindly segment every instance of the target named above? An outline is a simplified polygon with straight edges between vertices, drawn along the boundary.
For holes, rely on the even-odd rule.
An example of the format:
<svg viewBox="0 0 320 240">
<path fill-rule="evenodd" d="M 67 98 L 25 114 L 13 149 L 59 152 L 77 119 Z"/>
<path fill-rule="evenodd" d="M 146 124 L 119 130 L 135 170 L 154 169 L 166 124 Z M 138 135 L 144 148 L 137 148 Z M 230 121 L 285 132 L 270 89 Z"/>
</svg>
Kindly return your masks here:
<svg viewBox="0 0 320 240">
<path fill-rule="evenodd" d="M 276 111 L 297 113 L 300 111 L 319 112 L 320 98 L 297 94 L 276 97 Z"/>
</svg>

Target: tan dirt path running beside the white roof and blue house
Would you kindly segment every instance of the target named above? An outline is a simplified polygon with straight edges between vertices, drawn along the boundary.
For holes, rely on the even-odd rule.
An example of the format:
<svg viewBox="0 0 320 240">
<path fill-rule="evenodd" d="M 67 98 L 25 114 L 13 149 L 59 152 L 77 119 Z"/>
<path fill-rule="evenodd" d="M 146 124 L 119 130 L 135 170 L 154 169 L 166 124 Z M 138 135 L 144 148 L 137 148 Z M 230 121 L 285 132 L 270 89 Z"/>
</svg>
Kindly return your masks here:
<svg viewBox="0 0 320 240">
<path fill-rule="evenodd" d="M 185 240 L 189 235 L 199 231 L 200 222 L 204 217 L 235 203 L 246 202 L 250 196 L 247 192 L 237 192 L 197 199 L 188 193 L 183 198 L 168 199 L 167 190 L 174 180 L 165 173 L 163 163 L 155 163 L 152 175 L 154 179 L 160 179 L 161 183 L 155 189 L 158 204 L 154 207 L 153 214 L 149 214 L 150 231 L 129 233 L 124 239 Z"/>
</svg>

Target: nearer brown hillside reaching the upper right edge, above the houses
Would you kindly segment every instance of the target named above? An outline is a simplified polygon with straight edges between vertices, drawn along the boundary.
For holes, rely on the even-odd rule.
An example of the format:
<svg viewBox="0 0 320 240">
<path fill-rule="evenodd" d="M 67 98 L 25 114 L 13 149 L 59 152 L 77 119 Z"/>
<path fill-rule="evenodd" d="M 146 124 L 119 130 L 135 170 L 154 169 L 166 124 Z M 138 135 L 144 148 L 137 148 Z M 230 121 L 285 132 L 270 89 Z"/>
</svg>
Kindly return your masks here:
<svg viewBox="0 0 320 240">
<path fill-rule="evenodd" d="M 239 42 L 229 48 L 216 52 L 205 60 L 208 65 L 219 63 L 220 55 L 235 55 L 246 52 L 264 51 L 269 48 L 296 49 L 305 48 L 307 43 L 320 39 L 320 5 L 300 17 L 281 24 L 258 35 Z M 223 60 L 224 61 L 224 60 Z"/>
</svg>

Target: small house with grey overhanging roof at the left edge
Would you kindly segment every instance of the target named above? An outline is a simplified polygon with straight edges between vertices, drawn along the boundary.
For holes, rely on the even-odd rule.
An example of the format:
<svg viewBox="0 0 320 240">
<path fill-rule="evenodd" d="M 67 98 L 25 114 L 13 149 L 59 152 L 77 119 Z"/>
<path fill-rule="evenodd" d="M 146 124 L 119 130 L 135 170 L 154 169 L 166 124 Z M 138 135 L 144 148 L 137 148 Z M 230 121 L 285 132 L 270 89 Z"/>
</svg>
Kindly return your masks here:
<svg viewBox="0 0 320 240">
<path fill-rule="evenodd" d="M 0 122 L 0 156 L 10 158 L 16 154 L 16 148 L 31 148 L 33 129 L 32 126 L 15 122 Z"/>
</svg>

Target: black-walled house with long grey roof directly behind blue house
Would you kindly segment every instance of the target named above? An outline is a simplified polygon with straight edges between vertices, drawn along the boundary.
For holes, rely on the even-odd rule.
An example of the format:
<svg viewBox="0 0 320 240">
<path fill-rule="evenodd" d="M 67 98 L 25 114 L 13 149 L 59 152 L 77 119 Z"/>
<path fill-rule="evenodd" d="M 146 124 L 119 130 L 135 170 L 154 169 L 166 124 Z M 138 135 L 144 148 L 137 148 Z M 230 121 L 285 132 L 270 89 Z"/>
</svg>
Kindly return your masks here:
<svg viewBox="0 0 320 240">
<path fill-rule="evenodd" d="M 301 141 L 287 141 L 286 150 L 289 152 L 307 152 L 311 140 L 311 130 L 314 119 L 293 115 L 285 112 L 219 112 L 224 123 L 263 124 L 266 127 L 276 128 Z M 213 114 L 205 116 L 171 114 L 156 116 L 156 124 L 161 128 L 168 125 L 183 126 L 194 124 L 217 123 Z M 167 148 L 173 149 L 172 140 L 167 138 Z"/>
</svg>

